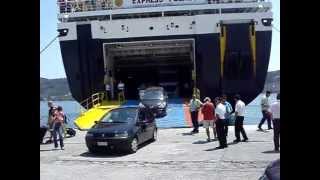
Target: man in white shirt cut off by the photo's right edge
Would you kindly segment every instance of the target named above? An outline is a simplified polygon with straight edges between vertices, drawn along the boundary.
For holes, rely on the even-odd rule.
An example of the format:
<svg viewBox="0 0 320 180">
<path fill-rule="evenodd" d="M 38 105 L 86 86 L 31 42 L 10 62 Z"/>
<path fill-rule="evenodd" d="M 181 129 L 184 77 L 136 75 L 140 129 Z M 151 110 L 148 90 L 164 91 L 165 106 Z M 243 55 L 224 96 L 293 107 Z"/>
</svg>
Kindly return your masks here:
<svg viewBox="0 0 320 180">
<path fill-rule="evenodd" d="M 277 101 L 271 105 L 272 122 L 273 122 L 273 141 L 274 150 L 279 151 L 280 146 L 280 93 L 277 94 Z"/>
</svg>

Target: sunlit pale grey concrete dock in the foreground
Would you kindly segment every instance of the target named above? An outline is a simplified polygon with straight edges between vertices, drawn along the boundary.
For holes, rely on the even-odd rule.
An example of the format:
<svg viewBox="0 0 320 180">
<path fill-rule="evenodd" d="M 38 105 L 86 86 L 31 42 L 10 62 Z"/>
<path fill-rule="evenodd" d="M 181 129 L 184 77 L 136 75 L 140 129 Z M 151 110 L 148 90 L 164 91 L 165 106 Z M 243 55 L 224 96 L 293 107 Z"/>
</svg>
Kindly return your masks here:
<svg viewBox="0 0 320 180">
<path fill-rule="evenodd" d="M 266 128 L 266 126 L 263 126 Z M 257 180 L 266 166 L 280 158 L 273 152 L 273 131 L 256 131 L 247 125 L 248 142 L 233 144 L 229 127 L 225 149 L 207 142 L 205 130 L 190 135 L 191 128 L 160 129 L 158 140 L 144 144 L 135 154 L 88 152 L 85 131 L 65 139 L 65 150 L 40 145 L 40 178 L 43 180 Z M 212 132 L 212 131 L 211 131 Z M 213 137 L 212 137 L 213 138 Z"/>
</svg>

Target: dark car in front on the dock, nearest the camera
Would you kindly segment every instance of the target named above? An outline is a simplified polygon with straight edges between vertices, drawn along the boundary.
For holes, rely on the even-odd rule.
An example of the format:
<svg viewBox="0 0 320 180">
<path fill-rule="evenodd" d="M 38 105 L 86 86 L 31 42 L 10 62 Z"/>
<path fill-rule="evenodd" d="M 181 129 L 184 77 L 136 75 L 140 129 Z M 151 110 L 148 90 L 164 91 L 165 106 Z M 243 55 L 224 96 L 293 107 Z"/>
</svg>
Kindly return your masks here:
<svg viewBox="0 0 320 180">
<path fill-rule="evenodd" d="M 101 118 L 87 132 L 86 145 L 90 152 L 117 149 L 135 153 L 146 141 L 155 141 L 157 126 L 152 112 L 138 107 L 116 108 Z"/>
</svg>

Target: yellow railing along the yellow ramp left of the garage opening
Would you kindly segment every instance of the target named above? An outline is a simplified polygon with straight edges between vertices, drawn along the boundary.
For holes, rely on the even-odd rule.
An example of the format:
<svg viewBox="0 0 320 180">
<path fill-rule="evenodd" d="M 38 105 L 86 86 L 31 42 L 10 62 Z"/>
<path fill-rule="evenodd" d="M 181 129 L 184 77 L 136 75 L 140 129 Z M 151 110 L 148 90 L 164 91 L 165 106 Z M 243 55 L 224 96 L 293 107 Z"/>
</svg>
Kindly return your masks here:
<svg viewBox="0 0 320 180">
<path fill-rule="evenodd" d="M 104 92 L 94 93 L 89 98 L 80 102 L 80 113 L 83 114 L 92 107 L 100 106 L 104 96 Z"/>
</svg>

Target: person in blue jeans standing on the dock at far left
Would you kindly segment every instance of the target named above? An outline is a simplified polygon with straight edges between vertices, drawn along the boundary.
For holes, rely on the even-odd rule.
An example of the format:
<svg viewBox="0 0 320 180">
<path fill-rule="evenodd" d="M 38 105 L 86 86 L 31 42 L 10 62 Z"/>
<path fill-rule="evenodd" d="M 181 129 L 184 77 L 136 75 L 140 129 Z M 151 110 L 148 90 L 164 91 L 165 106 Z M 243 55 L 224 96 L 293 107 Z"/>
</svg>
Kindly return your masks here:
<svg viewBox="0 0 320 180">
<path fill-rule="evenodd" d="M 54 110 L 54 126 L 53 126 L 53 142 L 54 147 L 58 148 L 58 140 L 57 135 L 59 136 L 59 142 L 60 142 L 60 148 L 64 150 L 64 144 L 63 144 L 63 136 L 61 128 L 63 126 L 64 121 L 64 113 L 62 111 L 62 107 L 58 106 L 56 110 Z"/>
</svg>

